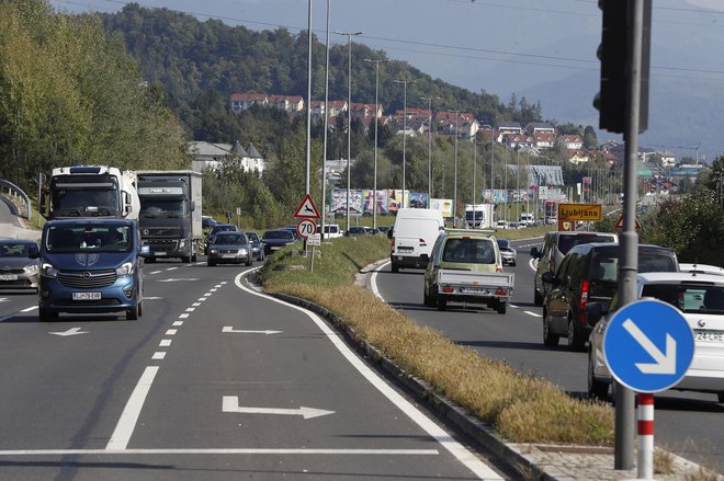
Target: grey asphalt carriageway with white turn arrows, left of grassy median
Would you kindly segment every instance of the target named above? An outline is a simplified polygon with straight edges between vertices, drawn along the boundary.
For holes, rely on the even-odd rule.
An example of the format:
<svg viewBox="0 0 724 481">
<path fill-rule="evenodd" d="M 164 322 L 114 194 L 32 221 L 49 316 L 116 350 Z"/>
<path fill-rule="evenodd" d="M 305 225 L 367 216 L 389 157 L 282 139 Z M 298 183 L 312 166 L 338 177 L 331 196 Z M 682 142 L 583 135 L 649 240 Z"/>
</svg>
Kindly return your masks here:
<svg viewBox="0 0 724 481">
<path fill-rule="evenodd" d="M 147 264 L 138 321 L 0 293 L 0 479 L 509 479 L 246 270 Z"/>
</svg>

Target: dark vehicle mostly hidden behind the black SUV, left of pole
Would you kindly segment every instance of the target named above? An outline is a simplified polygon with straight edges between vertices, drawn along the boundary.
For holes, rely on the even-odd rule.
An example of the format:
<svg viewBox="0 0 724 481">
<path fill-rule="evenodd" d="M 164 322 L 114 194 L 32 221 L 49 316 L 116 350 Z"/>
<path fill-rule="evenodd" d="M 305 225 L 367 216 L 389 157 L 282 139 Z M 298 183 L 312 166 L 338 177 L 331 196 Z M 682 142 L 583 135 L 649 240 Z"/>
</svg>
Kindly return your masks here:
<svg viewBox="0 0 724 481">
<path fill-rule="evenodd" d="M 535 274 L 533 274 L 533 304 L 541 306 L 547 294 L 548 285 L 543 283 L 543 274 L 554 273 L 561 265 L 564 255 L 579 244 L 591 242 L 618 242 L 619 237 L 610 232 L 548 232 L 543 239 L 543 248 L 531 249 L 531 257 L 538 260 Z"/>
</svg>

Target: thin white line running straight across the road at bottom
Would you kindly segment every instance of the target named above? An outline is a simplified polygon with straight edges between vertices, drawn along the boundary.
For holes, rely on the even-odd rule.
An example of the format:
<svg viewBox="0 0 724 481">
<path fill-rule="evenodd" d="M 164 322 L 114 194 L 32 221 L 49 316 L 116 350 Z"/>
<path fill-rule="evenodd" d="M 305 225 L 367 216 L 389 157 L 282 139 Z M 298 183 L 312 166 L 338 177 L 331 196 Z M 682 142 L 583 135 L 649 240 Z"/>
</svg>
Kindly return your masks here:
<svg viewBox="0 0 724 481">
<path fill-rule="evenodd" d="M 0 456 L 69 455 L 342 455 L 342 456 L 439 456 L 438 449 L 333 449 L 333 448 L 197 448 L 197 449 L 18 449 Z"/>
</svg>

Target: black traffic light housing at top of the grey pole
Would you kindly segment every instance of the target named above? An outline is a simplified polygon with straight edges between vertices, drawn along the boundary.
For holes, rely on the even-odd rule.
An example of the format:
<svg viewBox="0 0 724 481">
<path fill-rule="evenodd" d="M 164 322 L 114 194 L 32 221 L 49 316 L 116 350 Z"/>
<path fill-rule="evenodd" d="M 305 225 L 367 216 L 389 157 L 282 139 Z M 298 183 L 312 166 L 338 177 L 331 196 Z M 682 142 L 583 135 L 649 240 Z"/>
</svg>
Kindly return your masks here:
<svg viewBox="0 0 724 481">
<path fill-rule="evenodd" d="M 643 1 L 643 44 L 641 62 L 641 96 L 638 131 L 648 127 L 648 72 L 651 53 L 652 0 L 599 0 L 603 12 L 601 44 L 597 56 L 601 60 L 601 90 L 593 99 L 599 110 L 599 127 L 623 134 L 626 124 L 627 70 L 633 67 L 627 41 L 633 25 L 630 3 Z"/>
</svg>

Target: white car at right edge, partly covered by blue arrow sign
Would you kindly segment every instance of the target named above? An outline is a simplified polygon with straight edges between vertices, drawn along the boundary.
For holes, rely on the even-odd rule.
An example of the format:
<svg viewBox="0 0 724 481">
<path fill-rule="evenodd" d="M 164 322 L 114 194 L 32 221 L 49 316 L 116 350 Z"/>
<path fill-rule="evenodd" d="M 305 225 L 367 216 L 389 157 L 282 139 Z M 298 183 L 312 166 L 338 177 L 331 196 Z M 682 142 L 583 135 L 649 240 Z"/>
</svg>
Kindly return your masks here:
<svg viewBox="0 0 724 481">
<path fill-rule="evenodd" d="M 645 273 L 636 276 L 636 295 L 653 297 L 679 309 L 694 334 L 694 355 L 686 376 L 671 389 L 712 392 L 724 402 L 724 277 L 699 273 Z M 588 392 L 606 399 L 612 385 L 603 356 L 603 334 L 619 296 L 610 305 L 591 304 L 590 317 L 606 314 L 590 334 Z"/>
</svg>

